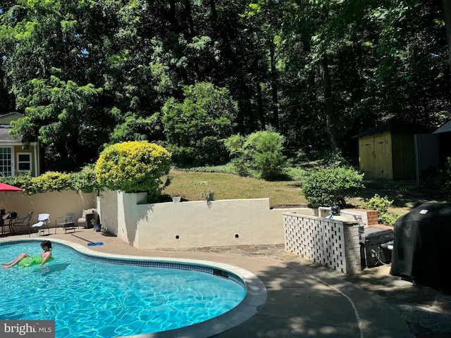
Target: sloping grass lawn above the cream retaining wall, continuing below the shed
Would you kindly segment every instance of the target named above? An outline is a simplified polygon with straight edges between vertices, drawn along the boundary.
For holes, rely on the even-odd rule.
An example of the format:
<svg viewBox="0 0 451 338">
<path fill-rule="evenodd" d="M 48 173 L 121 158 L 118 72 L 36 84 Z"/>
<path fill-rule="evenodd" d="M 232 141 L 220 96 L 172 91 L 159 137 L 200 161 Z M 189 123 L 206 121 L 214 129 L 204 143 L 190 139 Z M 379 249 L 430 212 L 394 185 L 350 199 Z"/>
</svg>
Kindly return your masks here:
<svg viewBox="0 0 451 338">
<path fill-rule="evenodd" d="M 301 194 L 300 181 L 268 182 L 226 173 L 178 170 L 171 170 L 170 175 L 173 177 L 172 183 L 163 194 L 178 194 L 185 201 L 202 200 L 201 192 L 213 189 L 214 199 L 269 198 L 271 208 L 307 206 L 307 200 Z M 413 181 L 374 180 L 365 181 L 364 186 L 360 196 L 347 201 L 350 206 L 357 207 L 363 199 L 371 199 L 374 194 L 379 194 L 393 201 L 390 213 L 402 215 L 428 201 L 449 201 L 449 196 L 440 195 L 428 187 L 417 187 Z"/>
</svg>

